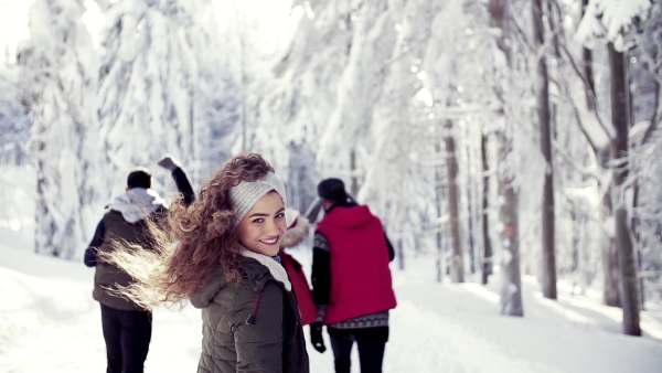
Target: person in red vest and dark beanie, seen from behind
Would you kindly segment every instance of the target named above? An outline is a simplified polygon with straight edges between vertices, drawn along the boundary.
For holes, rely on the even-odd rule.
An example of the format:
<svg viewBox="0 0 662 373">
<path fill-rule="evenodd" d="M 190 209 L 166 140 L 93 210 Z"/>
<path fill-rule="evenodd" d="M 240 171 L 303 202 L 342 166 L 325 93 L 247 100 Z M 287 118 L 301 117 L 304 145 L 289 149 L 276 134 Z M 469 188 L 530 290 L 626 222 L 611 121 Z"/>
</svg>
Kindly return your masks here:
<svg viewBox="0 0 662 373">
<path fill-rule="evenodd" d="M 388 341 L 388 310 L 395 308 L 388 264 L 394 258 L 382 222 L 356 204 L 340 179 L 318 184 L 324 216 L 314 232 L 310 326 L 313 348 L 324 352 L 322 326 L 331 340 L 337 373 L 349 373 L 354 341 L 361 373 L 382 372 Z"/>
</svg>

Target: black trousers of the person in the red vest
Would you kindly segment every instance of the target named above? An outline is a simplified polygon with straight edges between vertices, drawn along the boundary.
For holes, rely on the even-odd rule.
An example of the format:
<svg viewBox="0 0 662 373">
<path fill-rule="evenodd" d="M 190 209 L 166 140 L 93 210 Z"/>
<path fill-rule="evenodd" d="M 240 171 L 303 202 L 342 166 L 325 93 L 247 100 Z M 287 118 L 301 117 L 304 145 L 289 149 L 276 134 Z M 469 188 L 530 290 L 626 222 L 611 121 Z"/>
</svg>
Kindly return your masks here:
<svg viewBox="0 0 662 373">
<path fill-rule="evenodd" d="M 361 373 L 381 373 L 384 349 L 388 341 L 388 327 L 364 329 L 337 329 L 327 327 L 331 339 L 331 349 L 335 373 L 350 373 L 352 367 L 352 347 L 359 347 Z"/>
</svg>

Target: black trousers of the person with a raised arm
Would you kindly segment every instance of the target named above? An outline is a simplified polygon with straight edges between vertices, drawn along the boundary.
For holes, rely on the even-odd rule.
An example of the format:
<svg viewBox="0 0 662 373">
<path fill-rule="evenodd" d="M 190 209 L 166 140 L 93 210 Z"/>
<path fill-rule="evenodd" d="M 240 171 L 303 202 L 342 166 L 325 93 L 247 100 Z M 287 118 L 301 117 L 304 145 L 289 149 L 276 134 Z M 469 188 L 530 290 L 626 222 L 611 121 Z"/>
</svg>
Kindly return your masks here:
<svg viewBox="0 0 662 373">
<path fill-rule="evenodd" d="M 107 373 L 142 373 L 151 340 L 150 311 L 122 311 L 102 305 Z"/>
</svg>

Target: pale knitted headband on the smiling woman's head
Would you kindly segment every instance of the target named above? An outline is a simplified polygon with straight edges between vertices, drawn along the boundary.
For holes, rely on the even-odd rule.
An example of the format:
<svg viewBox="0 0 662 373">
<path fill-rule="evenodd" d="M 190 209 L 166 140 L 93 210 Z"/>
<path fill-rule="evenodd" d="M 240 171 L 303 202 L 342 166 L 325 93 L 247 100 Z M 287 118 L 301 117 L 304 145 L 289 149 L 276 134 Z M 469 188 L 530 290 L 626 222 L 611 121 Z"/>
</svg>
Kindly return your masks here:
<svg viewBox="0 0 662 373">
<path fill-rule="evenodd" d="M 235 209 L 234 225 L 239 225 L 239 222 L 250 209 L 270 191 L 276 191 L 282 199 L 282 203 L 287 205 L 285 196 L 285 185 L 282 181 L 274 172 L 267 172 L 261 179 L 256 181 L 242 181 L 238 185 L 229 190 L 229 203 Z"/>
</svg>

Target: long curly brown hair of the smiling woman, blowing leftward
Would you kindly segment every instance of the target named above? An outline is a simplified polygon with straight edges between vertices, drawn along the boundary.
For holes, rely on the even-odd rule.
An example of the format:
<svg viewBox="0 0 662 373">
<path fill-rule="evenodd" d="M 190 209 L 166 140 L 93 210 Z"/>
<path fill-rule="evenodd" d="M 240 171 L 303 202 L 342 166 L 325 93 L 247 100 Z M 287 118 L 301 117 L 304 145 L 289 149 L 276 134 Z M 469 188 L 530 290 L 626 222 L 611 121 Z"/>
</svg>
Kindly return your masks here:
<svg viewBox="0 0 662 373">
<path fill-rule="evenodd" d="M 116 249 L 103 254 L 102 259 L 126 270 L 135 280 L 117 294 L 146 309 L 161 303 L 183 306 L 212 270 L 221 269 L 228 279 L 238 279 L 241 246 L 229 190 L 242 181 L 261 179 L 269 171 L 274 169 L 260 154 L 236 156 L 203 184 L 191 205 L 178 199 L 170 206 L 166 224 L 148 222 L 153 251 L 115 243 Z"/>
</svg>

